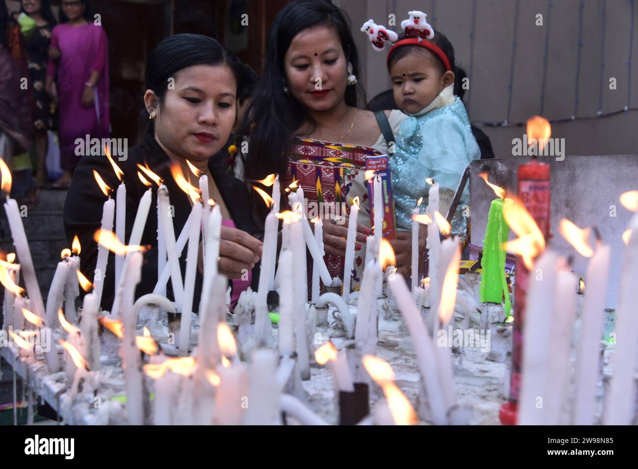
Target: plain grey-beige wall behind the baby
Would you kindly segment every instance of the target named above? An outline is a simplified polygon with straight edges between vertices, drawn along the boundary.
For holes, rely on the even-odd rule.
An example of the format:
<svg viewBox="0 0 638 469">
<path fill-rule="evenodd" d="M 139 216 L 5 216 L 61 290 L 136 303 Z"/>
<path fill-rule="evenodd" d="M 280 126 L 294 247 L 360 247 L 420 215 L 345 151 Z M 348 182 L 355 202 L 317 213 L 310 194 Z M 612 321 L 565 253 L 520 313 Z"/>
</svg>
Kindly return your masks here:
<svg viewBox="0 0 638 469">
<path fill-rule="evenodd" d="M 401 20 L 407 18 L 408 10 L 424 11 L 435 31 L 440 29 L 452 41 L 457 64 L 470 72 L 472 0 L 335 0 L 334 3 L 344 8 L 352 20 L 353 34 L 364 63 L 362 78 L 368 99 L 390 87 L 385 69 L 386 54 L 375 52 L 367 37 L 359 31 L 369 18 L 387 26 L 387 15 L 396 13 L 394 29 L 401 32 Z M 520 2 L 510 122 L 525 121 L 540 112 L 547 3 L 547 0 Z M 554 0 L 549 13 L 543 113 L 548 119 L 570 117 L 574 113 L 580 3 L 580 0 Z M 602 4 L 602 0 L 584 1 L 578 117 L 595 116 L 598 111 Z M 473 121 L 503 121 L 507 115 L 515 5 L 515 0 L 477 0 L 473 73 L 465 97 L 466 103 L 470 103 Z M 396 12 L 393 11 L 395 6 Z M 625 63 L 629 52 L 630 11 L 628 0 L 606 2 L 603 112 L 620 110 L 627 104 L 628 68 Z M 542 13 L 544 26 L 535 25 L 537 13 Z M 634 24 L 630 107 L 638 107 L 638 4 L 634 5 Z M 615 90 L 609 89 L 610 77 L 617 80 Z M 524 133 L 524 128 L 484 130 L 492 140 L 497 157 L 511 156 L 512 138 Z M 638 111 L 600 120 L 554 124 L 553 137 L 565 138 L 567 154 L 638 154 Z"/>
</svg>

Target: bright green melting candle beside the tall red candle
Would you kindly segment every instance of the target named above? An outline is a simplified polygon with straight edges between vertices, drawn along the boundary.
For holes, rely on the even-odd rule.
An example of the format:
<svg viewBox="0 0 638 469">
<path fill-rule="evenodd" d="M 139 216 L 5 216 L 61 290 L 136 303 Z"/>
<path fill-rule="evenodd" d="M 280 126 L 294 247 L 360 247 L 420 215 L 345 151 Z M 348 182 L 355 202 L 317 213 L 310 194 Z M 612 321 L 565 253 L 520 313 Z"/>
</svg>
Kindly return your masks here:
<svg viewBox="0 0 638 469">
<path fill-rule="evenodd" d="M 505 199 L 507 204 L 510 199 Z M 503 218 L 503 199 L 492 201 L 487 215 L 487 228 L 483 240 L 480 278 L 480 301 L 502 303 L 505 296 L 505 314 L 510 314 L 510 295 L 505 280 L 505 249 L 510 228 Z"/>
</svg>

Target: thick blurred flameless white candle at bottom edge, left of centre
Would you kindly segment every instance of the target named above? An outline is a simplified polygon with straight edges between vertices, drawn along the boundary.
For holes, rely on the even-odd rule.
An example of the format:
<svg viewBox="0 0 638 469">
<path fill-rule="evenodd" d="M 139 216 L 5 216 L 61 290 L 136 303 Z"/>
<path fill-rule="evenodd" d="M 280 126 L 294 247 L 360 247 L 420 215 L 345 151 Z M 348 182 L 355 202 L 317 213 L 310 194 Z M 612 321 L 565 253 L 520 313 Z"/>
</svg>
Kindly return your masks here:
<svg viewBox="0 0 638 469">
<path fill-rule="evenodd" d="M 250 383 L 246 410 L 246 425 L 278 425 L 281 421 L 279 396 L 281 388 L 277 382 L 277 354 L 273 350 L 260 349 L 253 352 L 250 366 Z"/>
</svg>

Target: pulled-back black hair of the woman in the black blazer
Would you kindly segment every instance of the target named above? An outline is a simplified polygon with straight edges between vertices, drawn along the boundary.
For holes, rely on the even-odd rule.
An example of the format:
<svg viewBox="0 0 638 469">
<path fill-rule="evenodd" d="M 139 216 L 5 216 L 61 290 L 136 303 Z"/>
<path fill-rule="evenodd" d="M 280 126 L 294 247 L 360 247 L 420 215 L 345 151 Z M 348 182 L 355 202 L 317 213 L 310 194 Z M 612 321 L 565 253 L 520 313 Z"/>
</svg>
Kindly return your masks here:
<svg viewBox="0 0 638 469">
<path fill-rule="evenodd" d="M 152 90 L 158 97 L 152 108 L 161 106 L 168 90 L 169 78 L 193 65 L 226 65 L 233 72 L 235 83 L 241 79 L 241 62 L 235 54 L 218 41 L 201 34 L 175 34 L 156 45 L 146 62 L 145 90 Z M 149 119 L 151 109 L 142 109 L 139 140 L 147 134 L 154 135 L 154 121 Z"/>
</svg>

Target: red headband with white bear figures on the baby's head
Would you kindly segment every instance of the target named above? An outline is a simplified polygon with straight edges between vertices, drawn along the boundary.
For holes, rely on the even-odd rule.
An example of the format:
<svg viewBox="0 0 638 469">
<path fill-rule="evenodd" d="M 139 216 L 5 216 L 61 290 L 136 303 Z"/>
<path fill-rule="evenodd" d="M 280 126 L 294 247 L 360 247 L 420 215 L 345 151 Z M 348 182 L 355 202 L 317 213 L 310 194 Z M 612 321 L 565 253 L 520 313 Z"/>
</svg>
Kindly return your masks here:
<svg viewBox="0 0 638 469">
<path fill-rule="evenodd" d="M 410 17 L 401 22 L 401 27 L 403 28 L 406 36 L 409 37 L 401 41 L 397 41 L 399 39 L 397 33 L 386 29 L 385 26 L 375 24 L 375 22 L 371 19 L 367 20 L 363 24 L 361 31 L 368 35 L 368 38 L 372 43 L 372 47 L 376 51 L 382 51 L 383 48 L 385 48 L 385 43 L 392 44 L 392 48 L 390 48 L 390 52 L 388 53 L 388 66 L 390 65 L 390 55 L 392 55 L 394 50 L 406 45 L 419 45 L 433 52 L 433 54 L 441 60 L 446 71 L 452 70 L 452 67 L 450 66 L 450 59 L 448 59 L 445 55 L 445 52 L 431 41 L 428 41 L 428 39 L 434 37 L 434 29 L 432 26 L 427 24 L 426 13 L 423 13 L 423 11 L 413 10 L 408 11 L 408 15 L 410 15 Z"/>
</svg>

